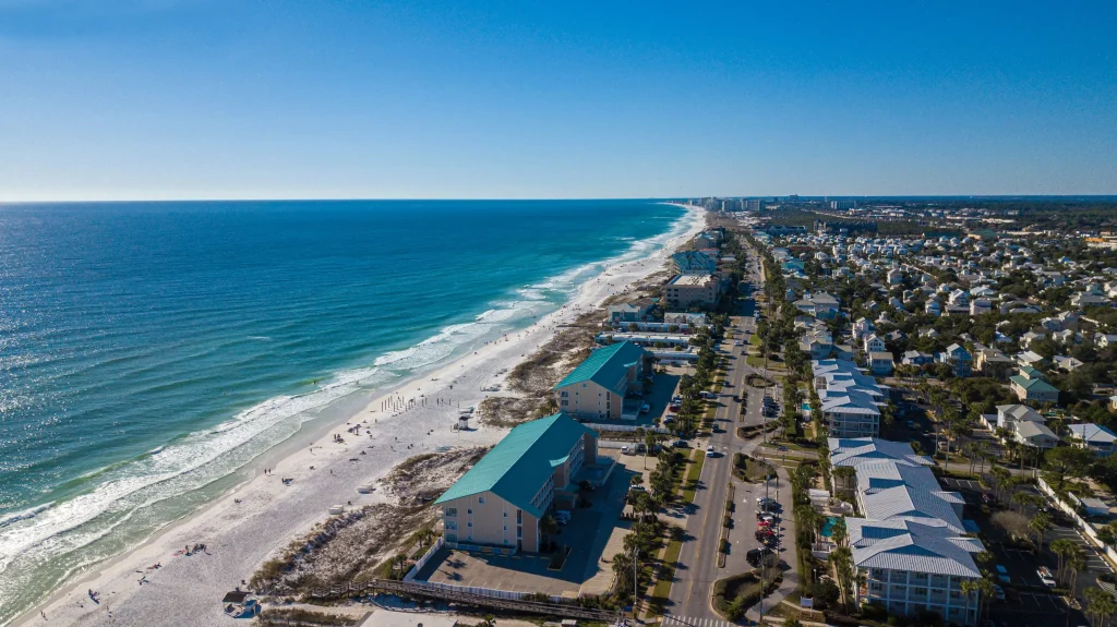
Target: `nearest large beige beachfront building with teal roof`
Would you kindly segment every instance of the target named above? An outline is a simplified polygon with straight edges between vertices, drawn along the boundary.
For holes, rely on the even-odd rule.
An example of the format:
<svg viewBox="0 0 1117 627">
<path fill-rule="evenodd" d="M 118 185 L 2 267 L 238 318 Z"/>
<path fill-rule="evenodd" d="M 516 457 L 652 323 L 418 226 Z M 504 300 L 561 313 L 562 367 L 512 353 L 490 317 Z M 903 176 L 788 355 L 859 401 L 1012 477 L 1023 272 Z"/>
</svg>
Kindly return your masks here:
<svg viewBox="0 0 1117 627">
<path fill-rule="evenodd" d="M 612 463 L 599 465 L 598 433 L 565 414 L 512 430 L 442 493 L 441 531 L 451 549 L 538 552 L 540 521 L 573 509 L 581 481 L 600 485 Z"/>
</svg>

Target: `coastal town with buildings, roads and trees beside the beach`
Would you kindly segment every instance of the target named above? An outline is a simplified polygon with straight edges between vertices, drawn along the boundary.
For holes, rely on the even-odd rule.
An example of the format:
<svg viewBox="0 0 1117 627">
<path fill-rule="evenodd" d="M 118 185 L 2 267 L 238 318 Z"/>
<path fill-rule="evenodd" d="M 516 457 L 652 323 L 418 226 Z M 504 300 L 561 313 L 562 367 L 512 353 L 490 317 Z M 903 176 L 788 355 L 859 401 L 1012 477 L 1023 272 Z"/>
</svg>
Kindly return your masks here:
<svg viewBox="0 0 1117 627">
<path fill-rule="evenodd" d="M 385 425 L 440 416 L 405 446 L 392 436 L 390 473 L 346 475 L 361 481 L 353 500 L 223 582 L 216 615 L 694 627 L 1117 615 L 1117 225 L 1086 213 L 1066 232 L 1028 209 L 915 201 L 684 206 L 694 225 L 670 250 L 626 281 L 605 271 L 513 367 L 436 373 L 431 396 L 417 384 L 333 434 L 334 465 L 297 459 L 333 476 L 365 454 L 360 438 L 383 445 Z M 481 389 L 477 403 L 439 396 L 451 380 Z M 283 491 L 308 471 L 278 472 Z M 102 592 L 88 596 L 99 611 Z"/>
</svg>

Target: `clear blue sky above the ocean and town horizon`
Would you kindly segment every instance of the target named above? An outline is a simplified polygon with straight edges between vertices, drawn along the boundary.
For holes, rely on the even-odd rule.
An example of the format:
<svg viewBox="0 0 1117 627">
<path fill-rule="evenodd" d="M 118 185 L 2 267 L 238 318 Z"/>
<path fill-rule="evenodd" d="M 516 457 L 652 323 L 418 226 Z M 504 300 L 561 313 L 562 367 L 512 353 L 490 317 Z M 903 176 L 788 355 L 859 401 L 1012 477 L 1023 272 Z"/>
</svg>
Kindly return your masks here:
<svg viewBox="0 0 1117 627">
<path fill-rule="evenodd" d="M 1114 32 L 1110 0 L 0 0 L 0 200 L 1115 194 Z"/>
</svg>

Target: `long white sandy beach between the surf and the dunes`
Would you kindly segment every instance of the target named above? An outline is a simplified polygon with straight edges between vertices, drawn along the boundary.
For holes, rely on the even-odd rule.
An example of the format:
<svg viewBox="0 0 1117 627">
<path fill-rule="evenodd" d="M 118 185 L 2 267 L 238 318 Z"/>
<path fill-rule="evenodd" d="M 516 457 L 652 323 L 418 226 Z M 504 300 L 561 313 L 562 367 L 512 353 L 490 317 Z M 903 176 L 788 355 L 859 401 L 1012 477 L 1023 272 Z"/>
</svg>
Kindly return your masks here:
<svg viewBox="0 0 1117 627">
<path fill-rule="evenodd" d="M 338 405 L 352 406 L 336 417 L 304 423 L 294 435 L 229 475 L 236 481 L 232 488 L 164 524 L 134 548 L 71 578 L 10 625 L 38 620 L 40 611 L 52 623 L 68 625 L 153 624 L 152 612 L 161 614 L 164 624 L 212 624 L 214 618 L 200 604 L 220 612 L 223 591 L 241 585 L 264 561 L 326 520 L 328 508 L 385 501 L 383 490 L 357 494 L 357 485 L 376 484 L 413 455 L 494 444 L 508 430 L 475 424 L 469 432 L 452 432 L 457 407 L 478 406 L 491 395 L 517 396 L 483 388 L 502 383 L 504 374 L 546 344 L 558 325 L 661 269 L 671 252 L 705 228 L 700 208 L 667 204 L 687 209 L 680 218 L 685 230 L 657 251 L 604 267 L 558 309 L 528 327 L 474 346 L 476 350 L 432 372 L 417 373 L 394 389 L 373 392 L 366 403 L 338 399 Z M 384 409 L 385 403 L 394 408 Z M 356 425 L 359 435 L 353 435 L 347 428 Z M 333 436 L 344 443 L 335 443 Z M 275 476 L 265 476 L 264 469 L 273 469 Z M 293 482 L 285 485 L 280 478 Z M 207 544 L 202 554 L 175 552 L 197 542 Z M 161 568 L 144 566 L 155 563 Z M 80 592 L 84 586 L 97 590 L 102 602 L 94 604 Z M 172 608 L 188 614 L 175 617 Z"/>
</svg>

